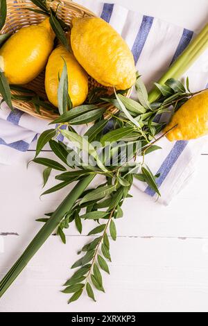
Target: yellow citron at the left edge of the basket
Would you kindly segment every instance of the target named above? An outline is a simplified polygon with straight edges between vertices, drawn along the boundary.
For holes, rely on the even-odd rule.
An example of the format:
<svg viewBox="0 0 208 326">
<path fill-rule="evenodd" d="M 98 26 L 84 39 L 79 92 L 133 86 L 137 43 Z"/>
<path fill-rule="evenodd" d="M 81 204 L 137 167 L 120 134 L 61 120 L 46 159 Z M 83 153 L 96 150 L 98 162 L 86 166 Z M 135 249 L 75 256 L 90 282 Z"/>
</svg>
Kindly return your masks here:
<svg viewBox="0 0 208 326">
<path fill-rule="evenodd" d="M 8 82 L 21 85 L 37 77 L 53 50 L 54 38 L 49 18 L 12 35 L 0 49 L 0 69 Z"/>
</svg>

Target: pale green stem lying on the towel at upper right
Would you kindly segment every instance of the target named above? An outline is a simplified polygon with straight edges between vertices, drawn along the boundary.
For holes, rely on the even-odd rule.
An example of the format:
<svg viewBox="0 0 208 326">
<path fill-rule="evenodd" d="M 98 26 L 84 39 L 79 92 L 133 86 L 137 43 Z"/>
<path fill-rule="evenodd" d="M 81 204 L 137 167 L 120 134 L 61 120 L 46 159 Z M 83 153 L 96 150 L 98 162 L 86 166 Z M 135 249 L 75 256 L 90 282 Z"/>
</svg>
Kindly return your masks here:
<svg viewBox="0 0 208 326">
<path fill-rule="evenodd" d="M 180 55 L 170 69 L 159 79 L 158 83 L 164 85 L 169 78 L 181 78 L 181 76 L 193 65 L 200 55 L 208 49 L 208 24 L 202 29 L 201 33 L 187 46 L 182 55 Z M 149 101 L 153 103 L 161 96 L 159 89 L 152 89 L 149 93 Z"/>
</svg>

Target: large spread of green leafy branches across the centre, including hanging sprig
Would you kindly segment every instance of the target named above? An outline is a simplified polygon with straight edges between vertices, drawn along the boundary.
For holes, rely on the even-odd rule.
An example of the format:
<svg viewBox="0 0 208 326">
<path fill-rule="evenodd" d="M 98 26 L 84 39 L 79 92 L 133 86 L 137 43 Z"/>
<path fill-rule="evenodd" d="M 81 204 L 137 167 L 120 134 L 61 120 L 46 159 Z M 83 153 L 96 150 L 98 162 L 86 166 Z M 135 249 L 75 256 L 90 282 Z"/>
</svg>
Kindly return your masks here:
<svg viewBox="0 0 208 326">
<path fill-rule="evenodd" d="M 58 191 L 71 182 L 83 180 L 87 175 L 95 176 L 96 174 L 101 174 L 106 178 L 105 183 L 102 185 L 84 191 L 76 200 L 71 211 L 64 214 L 57 228 L 57 234 L 63 243 L 66 243 L 64 229 L 69 228 L 69 224 L 72 222 L 75 223 L 78 232 L 81 233 L 83 221 L 93 220 L 98 225 L 88 235 L 100 234 L 78 252 L 79 254 L 85 252 L 85 255 L 78 259 L 71 267 L 78 268 L 78 270 L 67 280 L 64 284 L 65 289 L 62 291 L 68 294 L 72 293 L 69 299 L 70 303 L 78 300 L 84 291 L 94 301 L 94 289 L 105 291 L 101 270 L 110 273 L 107 260 L 111 261 L 110 242 L 107 233 L 110 231 L 112 239 L 116 240 L 114 220 L 123 217 L 121 207 L 123 200 L 131 197 L 129 190 L 132 186 L 133 178 L 135 177 L 141 182 L 146 182 L 160 196 L 157 187 L 159 175 L 153 175 L 145 164 L 145 156 L 148 153 L 161 149 L 155 145 L 155 142 L 164 137 L 164 135 L 157 139 L 155 137 L 164 128 L 164 123 L 156 122 L 155 118 L 164 112 L 170 112 L 170 107 L 173 110 L 177 110 L 179 105 L 182 105 L 184 101 L 187 101 L 194 94 L 189 91 L 188 79 L 187 89 L 179 81 L 171 79 L 164 86 L 157 85 L 161 92 L 161 97 L 156 103 L 150 103 L 146 87 L 142 83 L 141 77 L 138 76 L 135 85 L 138 101 L 125 98 L 125 96 L 116 92 L 114 97 L 100 98 L 98 103 L 101 101 L 113 103 L 119 109 L 116 114 L 112 114 L 113 128 L 103 133 L 103 128 L 107 124 L 107 121 L 103 119 L 105 109 L 98 108 L 96 101 L 93 104 L 81 105 L 78 108 L 73 108 L 73 110 L 68 110 L 67 96 L 69 94 L 67 87 L 64 87 L 66 76 L 67 71 L 65 71 L 64 78 L 60 81 L 62 93 L 60 94 L 61 96 L 58 96 L 61 108 L 64 108 L 64 103 L 66 103 L 65 110 L 63 110 L 58 119 L 51 122 L 51 124 L 58 123 L 58 126 L 55 129 L 46 130 L 37 142 L 34 162 L 46 166 L 44 170 L 44 185 L 49 178 L 51 169 L 62 172 L 55 177 L 61 183 L 45 191 L 44 194 Z M 64 92 L 63 89 L 65 89 Z M 91 122 L 94 122 L 94 125 L 84 135 L 88 139 L 81 137 L 71 129 L 73 125 Z M 62 126 L 65 126 L 66 129 L 62 130 Z M 74 154 L 74 149 L 67 148 L 65 144 L 57 141 L 56 137 L 59 134 L 72 141 L 80 150 L 87 148 L 88 155 L 92 155 L 96 160 L 96 166 L 85 166 L 85 162 L 82 162 L 82 160 L 80 160 L 79 165 L 76 165 L 76 169 L 74 169 L 74 166 L 69 166 L 67 157 L 70 153 Z M 94 140 L 100 142 L 100 147 L 94 148 L 92 145 Z M 118 144 L 119 141 L 121 141 L 121 144 Z M 53 153 L 62 160 L 64 165 L 54 160 L 37 157 L 47 142 L 49 142 Z M 132 153 L 128 160 L 126 160 L 125 151 L 128 149 L 128 146 L 132 146 Z M 124 153 L 123 150 L 125 150 Z M 118 162 L 114 166 L 113 158 L 116 151 Z M 141 162 L 137 162 L 138 156 L 142 158 Z M 123 159 L 125 159 L 124 162 Z M 47 219 L 44 218 L 39 221 L 46 222 Z M 105 221 L 105 223 L 100 224 L 100 221 Z"/>
</svg>

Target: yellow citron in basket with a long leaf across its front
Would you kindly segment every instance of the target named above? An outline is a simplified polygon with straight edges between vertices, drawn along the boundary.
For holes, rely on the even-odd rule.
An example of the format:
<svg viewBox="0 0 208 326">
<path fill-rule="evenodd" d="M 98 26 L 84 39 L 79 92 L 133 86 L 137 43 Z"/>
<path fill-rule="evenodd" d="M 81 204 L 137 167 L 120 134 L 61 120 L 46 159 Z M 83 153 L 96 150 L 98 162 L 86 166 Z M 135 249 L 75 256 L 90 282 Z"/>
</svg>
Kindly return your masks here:
<svg viewBox="0 0 208 326">
<path fill-rule="evenodd" d="M 64 46 L 58 46 L 49 57 L 46 65 L 45 89 L 49 101 L 58 108 L 58 84 L 64 61 L 67 64 L 69 96 L 73 107 L 83 104 L 88 94 L 88 78 L 85 70 L 72 53 Z"/>
</svg>

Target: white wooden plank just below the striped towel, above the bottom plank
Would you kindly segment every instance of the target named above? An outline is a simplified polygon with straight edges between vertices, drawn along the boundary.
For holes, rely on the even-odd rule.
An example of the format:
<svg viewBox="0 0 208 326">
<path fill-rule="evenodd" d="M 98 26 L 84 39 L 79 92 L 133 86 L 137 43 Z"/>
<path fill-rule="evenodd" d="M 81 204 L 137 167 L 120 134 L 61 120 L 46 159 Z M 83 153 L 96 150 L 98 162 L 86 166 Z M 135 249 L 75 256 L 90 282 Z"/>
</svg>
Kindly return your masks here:
<svg viewBox="0 0 208 326">
<path fill-rule="evenodd" d="M 28 234 L 28 240 L 32 239 L 41 227 L 35 219 L 53 211 L 71 189 L 69 187 L 68 190 L 63 189 L 40 198 L 43 168 L 31 163 L 26 169 L 26 162 L 32 157 L 31 153 L 27 153 L 19 164 L 1 166 L 0 170 L 3 185 L 0 189 L 0 232 Z M 123 205 L 124 218 L 116 222 L 118 234 L 134 237 L 207 238 L 207 182 L 204 173 L 207 169 L 207 160 L 207 156 L 200 158 L 196 178 L 168 207 L 155 203 L 133 187 L 131 193 L 134 197 L 126 200 Z M 55 173 L 49 180 L 49 187 L 54 184 L 54 175 Z M 87 234 L 93 226 L 94 222 L 85 221 L 84 234 Z M 71 226 L 67 234 L 78 233 Z"/>
</svg>

